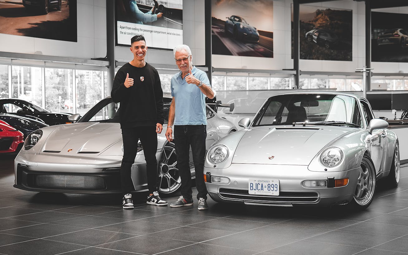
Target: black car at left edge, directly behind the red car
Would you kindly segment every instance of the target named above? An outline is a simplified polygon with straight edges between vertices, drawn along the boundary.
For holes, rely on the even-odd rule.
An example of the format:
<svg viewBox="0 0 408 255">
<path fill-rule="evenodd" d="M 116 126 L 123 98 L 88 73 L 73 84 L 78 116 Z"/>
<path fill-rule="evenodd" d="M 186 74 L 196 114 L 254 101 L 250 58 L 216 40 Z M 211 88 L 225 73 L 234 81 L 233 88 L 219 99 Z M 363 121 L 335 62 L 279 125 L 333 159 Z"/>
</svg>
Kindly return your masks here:
<svg viewBox="0 0 408 255">
<path fill-rule="evenodd" d="M 20 117 L 20 116 L 8 114 L 8 113 L 0 113 L 0 120 L 7 122 L 10 126 L 12 126 L 13 128 L 23 133 L 24 139 L 31 132 L 48 126 L 44 122 L 40 122 L 38 120 Z"/>
</svg>

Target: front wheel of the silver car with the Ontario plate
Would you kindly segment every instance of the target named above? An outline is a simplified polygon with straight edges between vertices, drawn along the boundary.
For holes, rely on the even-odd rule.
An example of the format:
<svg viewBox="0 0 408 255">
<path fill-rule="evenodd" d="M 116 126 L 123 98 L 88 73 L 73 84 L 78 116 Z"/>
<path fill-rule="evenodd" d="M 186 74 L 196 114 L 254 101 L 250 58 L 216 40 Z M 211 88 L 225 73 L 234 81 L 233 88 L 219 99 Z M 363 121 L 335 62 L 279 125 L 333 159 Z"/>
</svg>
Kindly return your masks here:
<svg viewBox="0 0 408 255">
<path fill-rule="evenodd" d="M 364 155 L 360 164 L 359 176 L 350 206 L 355 210 L 365 210 L 373 202 L 375 192 L 375 169 L 371 159 Z"/>
</svg>

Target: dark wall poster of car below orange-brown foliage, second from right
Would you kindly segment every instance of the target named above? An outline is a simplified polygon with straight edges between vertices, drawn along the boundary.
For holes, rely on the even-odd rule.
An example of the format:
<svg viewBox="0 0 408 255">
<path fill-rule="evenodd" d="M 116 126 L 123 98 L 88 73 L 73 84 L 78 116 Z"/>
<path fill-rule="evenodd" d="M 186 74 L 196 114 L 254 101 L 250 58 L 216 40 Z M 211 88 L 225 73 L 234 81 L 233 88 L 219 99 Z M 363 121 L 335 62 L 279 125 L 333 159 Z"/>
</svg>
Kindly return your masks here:
<svg viewBox="0 0 408 255">
<path fill-rule="evenodd" d="M 352 61 L 352 39 L 352 10 L 315 7 L 300 4 L 300 59 Z"/>
</svg>

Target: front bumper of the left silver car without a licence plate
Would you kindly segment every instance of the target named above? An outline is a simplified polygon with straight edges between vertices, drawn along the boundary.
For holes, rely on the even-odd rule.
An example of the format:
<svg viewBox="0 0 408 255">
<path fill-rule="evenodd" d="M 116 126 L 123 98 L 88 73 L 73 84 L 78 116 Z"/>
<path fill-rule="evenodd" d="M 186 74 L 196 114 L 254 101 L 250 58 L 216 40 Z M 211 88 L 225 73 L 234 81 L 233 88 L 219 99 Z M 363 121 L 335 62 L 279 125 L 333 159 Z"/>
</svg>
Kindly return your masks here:
<svg viewBox="0 0 408 255">
<path fill-rule="evenodd" d="M 14 187 L 60 193 L 120 193 L 121 155 L 68 157 L 25 153 L 14 160 Z M 161 151 L 156 159 L 160 160 Z M 147 191 L 146 161 L 137 154 L 131 178 L 135 191 Z"/>
</svg>

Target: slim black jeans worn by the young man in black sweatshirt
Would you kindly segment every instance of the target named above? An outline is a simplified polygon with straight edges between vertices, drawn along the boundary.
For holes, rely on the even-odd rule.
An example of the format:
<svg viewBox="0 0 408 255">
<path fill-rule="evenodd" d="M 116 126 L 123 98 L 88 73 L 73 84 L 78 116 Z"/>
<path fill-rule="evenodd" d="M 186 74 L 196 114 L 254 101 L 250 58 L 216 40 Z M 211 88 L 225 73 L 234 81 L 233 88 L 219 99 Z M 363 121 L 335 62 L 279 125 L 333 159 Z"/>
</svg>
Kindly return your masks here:
<svg viewBox="0 0 408 255">
<path fill-rule="evenodd" d="M 120 182 L 122 193 L 128 194 L 134 190 L 131 179 L 132 164 L 135 162 L 137 142 L 143 146 L 144 159 L 146 160 L 147 187 L 149 193 L 157 190 L 157 133 L 156 126 L 138 126 L 122 129 L 123 159 L 120 166 Z"/>
</svg>

